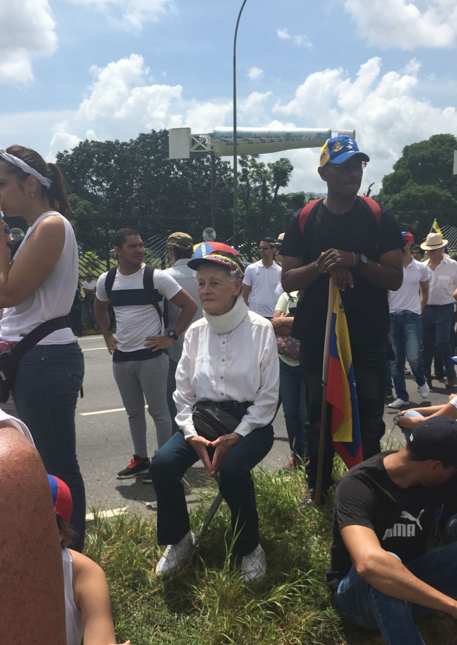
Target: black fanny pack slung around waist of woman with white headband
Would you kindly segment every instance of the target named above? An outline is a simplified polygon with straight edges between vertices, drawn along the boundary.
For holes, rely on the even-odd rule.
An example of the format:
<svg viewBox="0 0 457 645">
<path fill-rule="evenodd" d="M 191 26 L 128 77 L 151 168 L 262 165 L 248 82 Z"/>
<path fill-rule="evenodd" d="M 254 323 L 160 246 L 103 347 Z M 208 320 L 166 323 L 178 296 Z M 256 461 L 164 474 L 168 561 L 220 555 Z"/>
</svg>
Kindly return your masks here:
<svg viewBox="0 0 457 645">
<path fill-rule="evenodd" d="M 24 338 L 17 343 L 12 349 L 0 353 L 0 402 L 6 403 L 10 397 L 10 392 L 14 388 L 17 366 L 21 358 L 34 347 L 37 342 L 42 341 L 44 337 L 58 329 L 70 327 L 66 316 L 53 318 L 51 321 L 39 324 L 32 329 Z"/>
</svg>

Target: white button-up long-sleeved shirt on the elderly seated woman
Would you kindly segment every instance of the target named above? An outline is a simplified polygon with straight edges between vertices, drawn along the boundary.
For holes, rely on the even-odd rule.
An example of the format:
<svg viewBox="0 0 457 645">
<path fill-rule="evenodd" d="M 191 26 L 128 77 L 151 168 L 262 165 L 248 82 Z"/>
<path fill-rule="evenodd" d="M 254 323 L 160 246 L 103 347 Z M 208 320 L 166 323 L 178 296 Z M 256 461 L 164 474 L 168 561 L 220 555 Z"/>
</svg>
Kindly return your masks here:
<svg viewBox="0 0 457 645">
<path fill-rule="evenodd" d="M 184 437 L 197 434 L 192 422 L 197 401 L 253 401 L 236 431 L 246 437 L 271 422 L 278 391 L 278 351 L 269 321 L 248 312 L 229 333 L 216 333 L 204 318 L 188 328 L 173 394 Z"/>
</svg>

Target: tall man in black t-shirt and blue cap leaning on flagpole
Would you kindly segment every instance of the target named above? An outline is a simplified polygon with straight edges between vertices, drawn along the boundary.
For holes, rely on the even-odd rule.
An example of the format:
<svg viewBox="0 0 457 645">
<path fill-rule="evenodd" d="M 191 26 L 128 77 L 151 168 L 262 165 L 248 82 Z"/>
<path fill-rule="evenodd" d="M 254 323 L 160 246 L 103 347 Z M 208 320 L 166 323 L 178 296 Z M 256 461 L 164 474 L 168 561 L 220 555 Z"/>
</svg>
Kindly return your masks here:
<svg viewBox="0 0 457 645">
<path fill-rule="evenodd" d="M 403 239 L 391 211 L 357 196 L 367 161 L 368 155 L 350 137 L 326 141 L 318 174 L 327 183 L 327 197 L 316 202 L 304 226 L 300 212 L 296 213 L 281 248 L 284 291 L 303 290 L 291 333 L 302 341 L 300 364 L 309 415 L 309 491 L 304 508 L 314 504 L 330 275 L 341 291 L 349 328 L 365 459 L 380 452 L 385 431 L 387 289 L 396 290 L 402 284 Z M 322 491 L 333 482 L 330 422 L 327 419 Z"/>
</svg>

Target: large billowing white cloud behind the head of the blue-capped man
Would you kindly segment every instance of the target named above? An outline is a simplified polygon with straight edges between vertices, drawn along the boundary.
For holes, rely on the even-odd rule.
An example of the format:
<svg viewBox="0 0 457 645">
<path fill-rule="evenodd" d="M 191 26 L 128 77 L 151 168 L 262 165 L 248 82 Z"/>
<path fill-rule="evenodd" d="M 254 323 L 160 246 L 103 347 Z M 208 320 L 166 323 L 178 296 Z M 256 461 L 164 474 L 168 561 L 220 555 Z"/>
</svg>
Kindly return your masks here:
<svg viewBox="0 0 457 645">
<path fill-rule="evenodd" d="M 420 88 L 420 79 L 416 75 L 395 71 L 382 74 L 381 59 L 374 57 L 360 66 L 355 79 L 348 77 L 342 68 L 310 74 L 297 88 L 295 97 L 288 103 L 277 103 L 275 110 L 287 115 L 298 127 L 355 129 L 360 149 L 371 157 L 364 185 L 376 181 L 377 191 L 380 180 L 391 172 L 405 145 L 440 132 L 457 135 L 456 109 L 436 108 L 428 101 L 419 101 L 414 97 L 417 87 Z M 301 154 L 287 155 L 294 163 Z M 307 154 L 315 158 L 315 168 L 317 154 L 313 151 Z M 300 163 L 302 170 L 304 159 Z M 289 190 L 300 190 L 296 183 L 300 172 L 295 173 Z M 302 181 L 301 190 L 323 190 L 324 184 L 314 170 L 302 172 Z"/>
</svg>

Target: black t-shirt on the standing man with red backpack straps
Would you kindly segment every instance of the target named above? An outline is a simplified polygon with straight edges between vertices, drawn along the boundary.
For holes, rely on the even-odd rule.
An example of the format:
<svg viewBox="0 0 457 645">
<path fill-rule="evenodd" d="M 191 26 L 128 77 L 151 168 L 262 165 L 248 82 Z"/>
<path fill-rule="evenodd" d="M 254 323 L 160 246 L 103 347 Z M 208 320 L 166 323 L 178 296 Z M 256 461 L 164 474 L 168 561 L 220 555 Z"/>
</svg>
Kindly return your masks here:
<svg viewBox="0 0 457 645">
<path fill-rule="evenodd" d="M 302 257 L 304 264 L 315 262 L 329 248 L 364 253 L 378 261 L 380 255 L 403 248 L 403 238 L 391 210 L 382 208 L 380 224 L 371 208 L 357 197 L 351 210 L 335 215 L 321 202 L 309 215 L 300 233 L 298 217 L 287 226 L 282 255 Z M 389 331 L 387 290 L 367 281 L 358 268 L 352 270 L 354 288 L 341 292 L 353 348 L 364 353 L 365 347 L 385 341 Z M 292 335 L 302 343 L 302 359 L 310 368 L 320 368 L 326 333 L 329 276 L 320 275 L 298 301 Z"/>
</svg>

